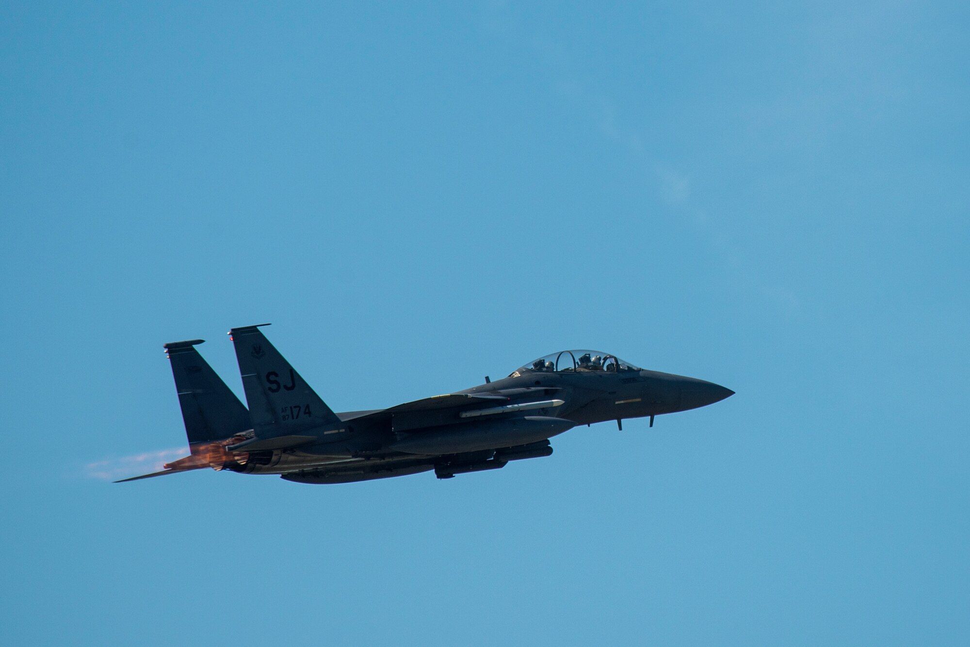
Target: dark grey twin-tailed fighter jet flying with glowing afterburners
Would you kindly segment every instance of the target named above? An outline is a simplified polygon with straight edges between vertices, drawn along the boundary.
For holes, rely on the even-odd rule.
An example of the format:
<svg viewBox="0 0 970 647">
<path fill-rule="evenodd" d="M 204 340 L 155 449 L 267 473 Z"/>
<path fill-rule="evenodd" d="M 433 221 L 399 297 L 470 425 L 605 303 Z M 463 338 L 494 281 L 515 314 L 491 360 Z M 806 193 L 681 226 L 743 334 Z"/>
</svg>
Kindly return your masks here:
<svg viewBox="0 0 970 647">
<path fill-rule="evenodd" d="M 260 327 L 233 328 L 248 410 L 196 350 L 165 344 L 190 455 L 161 472 L 212 468 L 299 483 L 347 483 L 431 472 L 498 470 L 552 454 L 549 439 L 577 425 L 673 414 L 734 391 L 641 369 L 614 354 L 562 351 L 508 377 L 389 409 L 335 413 L 276 351 Z"/>
</svg>

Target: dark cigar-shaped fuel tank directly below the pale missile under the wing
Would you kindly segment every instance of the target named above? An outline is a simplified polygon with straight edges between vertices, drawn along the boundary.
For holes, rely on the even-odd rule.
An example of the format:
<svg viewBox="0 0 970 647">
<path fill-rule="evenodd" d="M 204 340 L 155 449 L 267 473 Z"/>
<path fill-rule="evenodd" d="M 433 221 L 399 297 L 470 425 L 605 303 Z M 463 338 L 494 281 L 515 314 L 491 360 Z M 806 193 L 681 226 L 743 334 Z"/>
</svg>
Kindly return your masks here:
<svg viewBox="0 0 970 647">
<path fill-rule="evenodd" d="M 466 422 L 416 430 L 390 449 L 412 454 L 457 454 L 479 449 L 515 447 L 552 438 L 576 426 L 561 417 L 525 416 L 488 422 Z"/>
</svg>

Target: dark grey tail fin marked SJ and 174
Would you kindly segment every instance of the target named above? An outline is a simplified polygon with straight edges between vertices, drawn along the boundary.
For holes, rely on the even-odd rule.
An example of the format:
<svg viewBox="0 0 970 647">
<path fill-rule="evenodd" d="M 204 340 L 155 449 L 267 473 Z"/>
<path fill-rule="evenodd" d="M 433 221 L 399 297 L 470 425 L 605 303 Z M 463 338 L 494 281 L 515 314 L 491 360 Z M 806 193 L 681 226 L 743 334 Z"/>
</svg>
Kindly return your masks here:
<svg viewBox="0 0 970 647">
<path fill-rule="evenodd" d="M 261 325 L 267 325 L 263 323 Z M 339 417 L 279 354 L 259 325 L 229 331 L 257 438 L 339 425 Z"/>
</svg>

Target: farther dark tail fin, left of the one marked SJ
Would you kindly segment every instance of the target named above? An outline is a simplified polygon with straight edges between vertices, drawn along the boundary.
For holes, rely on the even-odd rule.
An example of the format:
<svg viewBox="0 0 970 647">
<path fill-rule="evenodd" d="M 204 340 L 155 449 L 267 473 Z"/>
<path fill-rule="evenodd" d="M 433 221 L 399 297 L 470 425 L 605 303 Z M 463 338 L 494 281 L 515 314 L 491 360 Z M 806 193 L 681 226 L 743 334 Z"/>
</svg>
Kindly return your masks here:
<svg viewBox="0 0 970 647">
<path fill-rule="evenodd" d="M 230 438 L 252 429 L 249 412 L 195 350 L 202 339 L 165 344 L 176 379 L 189 446 Z"/>
</svg>

